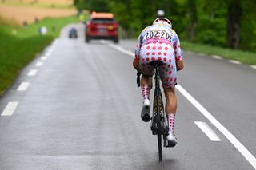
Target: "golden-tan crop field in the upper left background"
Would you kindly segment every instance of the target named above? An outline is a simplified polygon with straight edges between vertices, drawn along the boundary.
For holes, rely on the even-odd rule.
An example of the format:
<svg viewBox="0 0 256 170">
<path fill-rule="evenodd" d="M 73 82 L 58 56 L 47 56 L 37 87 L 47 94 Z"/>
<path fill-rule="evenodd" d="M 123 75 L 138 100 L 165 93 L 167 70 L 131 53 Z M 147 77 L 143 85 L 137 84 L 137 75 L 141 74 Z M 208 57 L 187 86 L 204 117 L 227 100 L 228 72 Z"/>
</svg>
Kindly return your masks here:
<svg viewBox="0 0 256 170">
<path fill-rule="evenodd" d="M 0 0 L 0 15 L 11 21 L 35 22 L 36 18 L 58 18 L 77 13 L 70 0 Z"/>
</svg>

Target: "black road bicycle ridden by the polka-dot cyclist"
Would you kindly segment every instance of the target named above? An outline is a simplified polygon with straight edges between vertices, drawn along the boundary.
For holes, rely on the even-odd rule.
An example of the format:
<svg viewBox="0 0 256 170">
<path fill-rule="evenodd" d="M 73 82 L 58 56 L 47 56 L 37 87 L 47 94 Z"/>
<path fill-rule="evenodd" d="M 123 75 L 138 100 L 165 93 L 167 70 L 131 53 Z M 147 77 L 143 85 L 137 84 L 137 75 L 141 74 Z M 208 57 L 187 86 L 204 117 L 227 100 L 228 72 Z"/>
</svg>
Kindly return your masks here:
<svg viewBox="0 0 256 170">
<path fill-rule="evenodd" d="M 154 73 L 154 102 L 153 102 L 153 115 L 150 117 L 151 125 L 150 129 L 153 135 L 158 136 L 158 157 L 159 162 L 162 162 L 162 140 L 163 146 L 165 148 L 174 147 L 171 144 L 168 144 L 166 136 L 168 136 L 168 123 L 166 113 L 164 112 L 164 105 L 162 103 L 162 92 L 160 89 L 160 81 L 159 81 L 159 68 L 163 65 L 162 61 L 152 61 L 150 65 L 153 65 L 155 68 Z M 137 73 L 137 85 L 140 87 L 140 75 L 142 73 Z"/>
</svg>

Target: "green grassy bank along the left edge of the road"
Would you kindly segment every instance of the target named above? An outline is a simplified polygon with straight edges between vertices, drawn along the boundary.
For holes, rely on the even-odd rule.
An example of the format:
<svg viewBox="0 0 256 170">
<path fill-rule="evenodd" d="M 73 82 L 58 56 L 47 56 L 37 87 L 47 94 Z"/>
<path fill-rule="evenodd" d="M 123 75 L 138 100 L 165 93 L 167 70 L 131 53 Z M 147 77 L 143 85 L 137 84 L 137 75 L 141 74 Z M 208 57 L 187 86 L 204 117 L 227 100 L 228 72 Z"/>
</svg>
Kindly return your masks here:
<svg viewBox="0 0 256 170">
<path fill-rule="evenodd" d="M 78 18 L 46 18 L 26 28 L 15 24 L 0 26 L 0 96 L 12 85 L 18 73 L 58 37 L 62 26 L 70 22 L 78 22 Z M 40 26 L 50 28 L 46 36 L 38 34 Z"/>
</svg>

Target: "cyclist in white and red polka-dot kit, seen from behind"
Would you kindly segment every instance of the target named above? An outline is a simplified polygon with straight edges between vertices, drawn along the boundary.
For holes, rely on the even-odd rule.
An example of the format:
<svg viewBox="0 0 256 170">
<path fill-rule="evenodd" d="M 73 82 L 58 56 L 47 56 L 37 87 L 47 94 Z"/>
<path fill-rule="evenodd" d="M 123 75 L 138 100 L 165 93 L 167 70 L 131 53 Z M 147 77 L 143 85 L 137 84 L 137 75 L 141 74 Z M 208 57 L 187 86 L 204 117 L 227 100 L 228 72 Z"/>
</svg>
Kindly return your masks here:
<svg viewBox="0 0 256 170">
<path fill-rule="evenodd" d="M 156 18 L 151 26 L 147 26 L 138 37 L 135 49 L 134 68 L 142 73 L 142 121 L 150 121 L 150 89 L 154 66 L 151 61 L 162 61 L 159 69 L 162 86 L 166 96 L 166 116 L 169 134 L 166 137 L 169 144 L 177 144 L 174 135 L 174 120 L 177 110 L 175 85 L 177 71 L 183 69 L 182 51 L 178 35 L 172 30 L 167 18 Z"/>
</svg>

